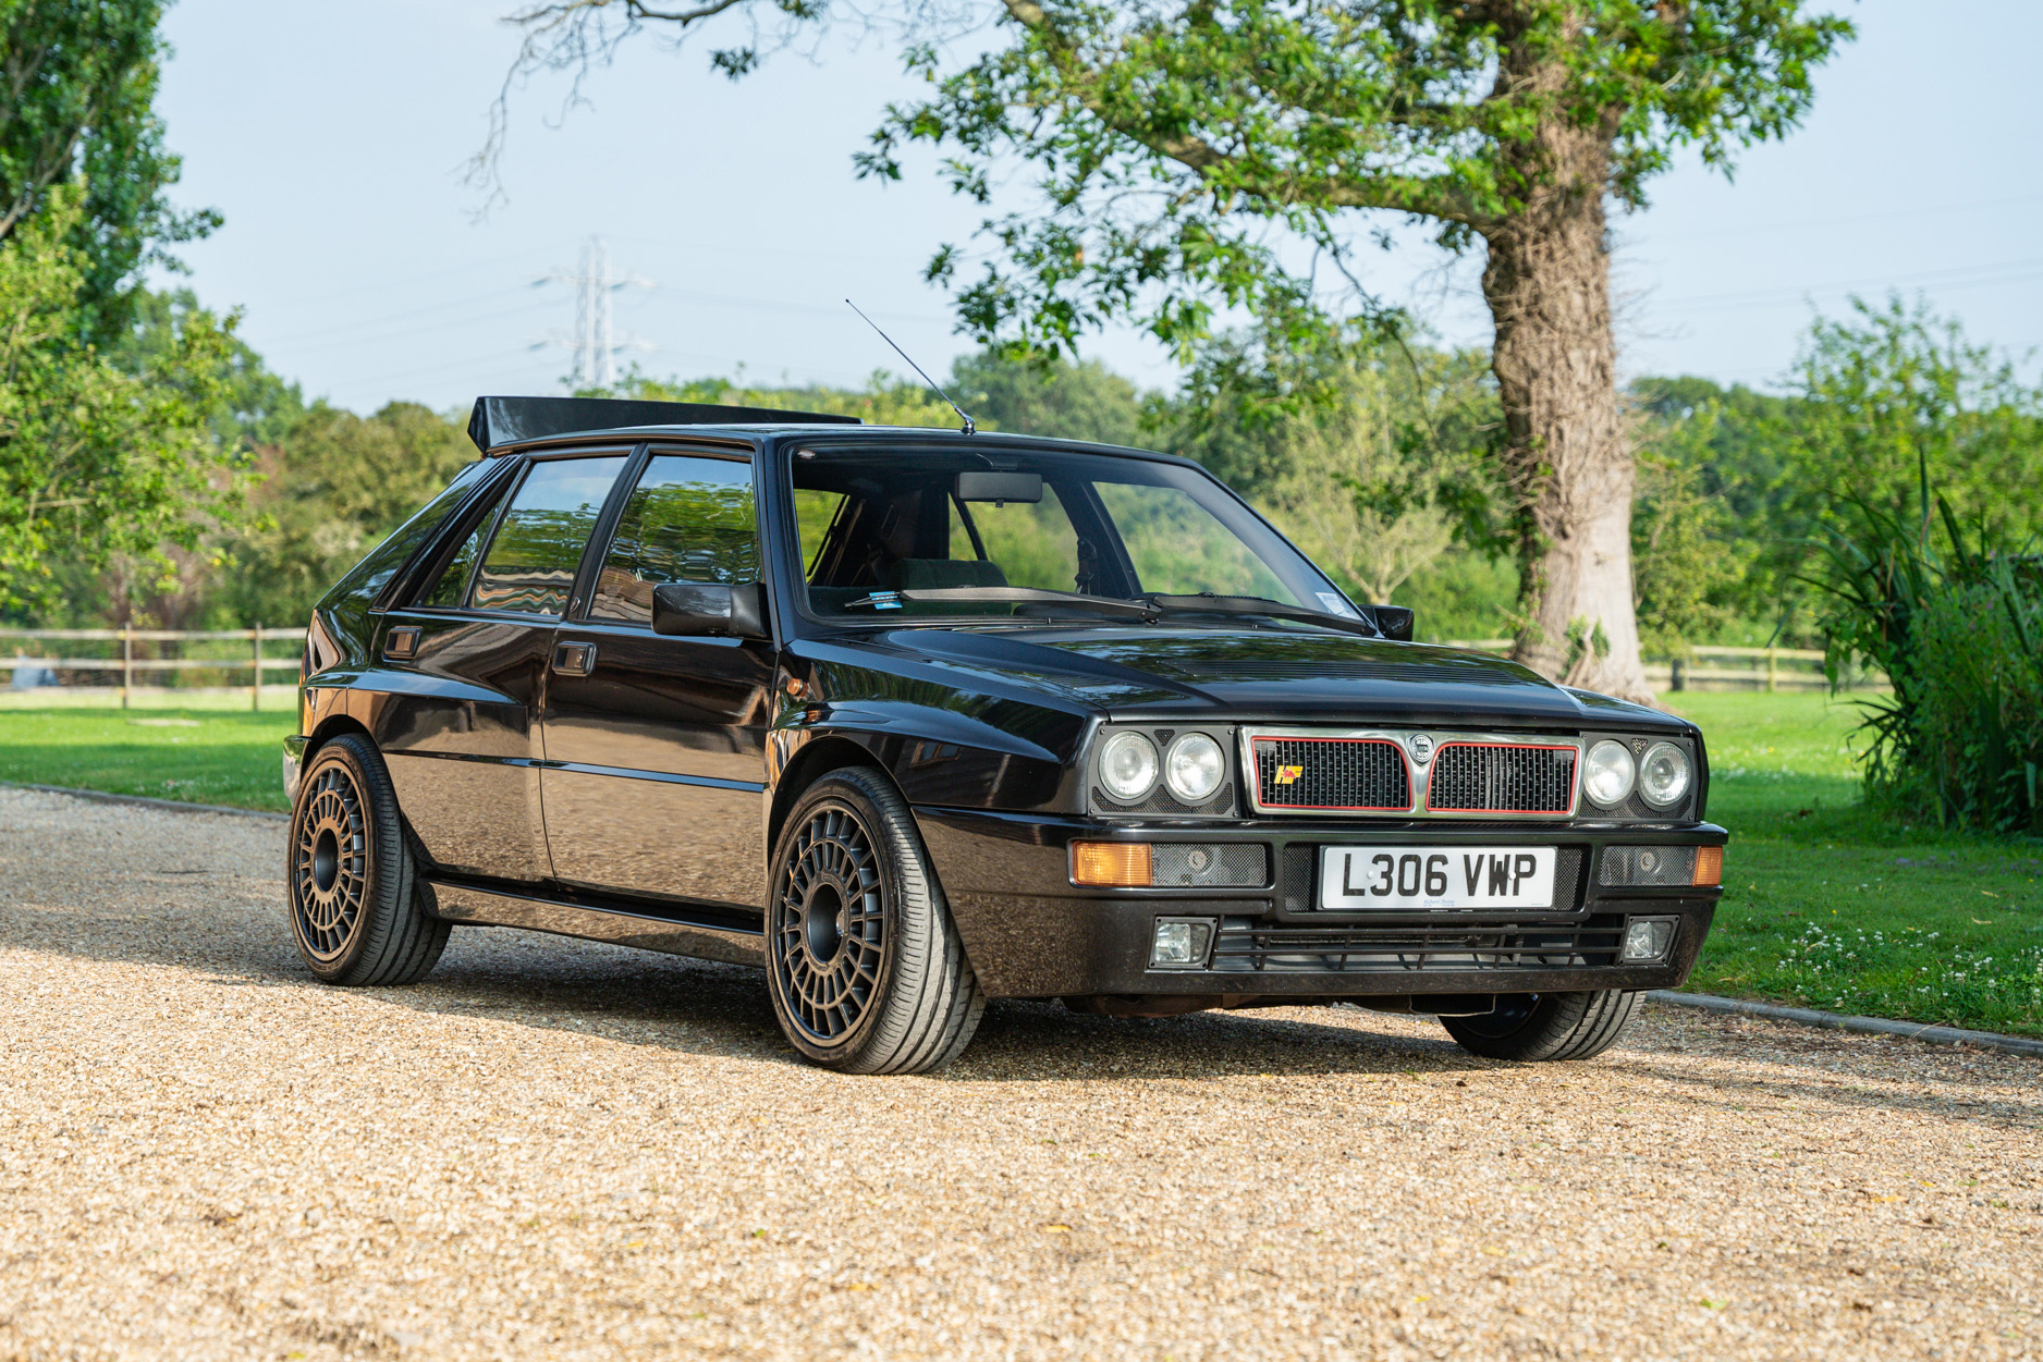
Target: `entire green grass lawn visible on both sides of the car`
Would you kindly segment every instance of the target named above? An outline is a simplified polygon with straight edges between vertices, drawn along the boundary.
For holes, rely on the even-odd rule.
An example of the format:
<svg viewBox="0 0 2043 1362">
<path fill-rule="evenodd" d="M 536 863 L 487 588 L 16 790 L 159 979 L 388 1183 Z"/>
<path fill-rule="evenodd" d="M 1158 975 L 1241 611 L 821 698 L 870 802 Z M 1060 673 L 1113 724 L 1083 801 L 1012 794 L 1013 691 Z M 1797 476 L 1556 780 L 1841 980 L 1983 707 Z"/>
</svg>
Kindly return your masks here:
<svg viewBox="0 0 2043 1362">
<path fill-rule="evenodd" d="M 1859 805 L 1853 707 L 1667 696 L 1710 743 L 1730 829 L 1700 992 L 2043 1035 L 2043 845 Z M 284 809 L 290 711 L 0 709 L 0 780 Z"/>
</svg>

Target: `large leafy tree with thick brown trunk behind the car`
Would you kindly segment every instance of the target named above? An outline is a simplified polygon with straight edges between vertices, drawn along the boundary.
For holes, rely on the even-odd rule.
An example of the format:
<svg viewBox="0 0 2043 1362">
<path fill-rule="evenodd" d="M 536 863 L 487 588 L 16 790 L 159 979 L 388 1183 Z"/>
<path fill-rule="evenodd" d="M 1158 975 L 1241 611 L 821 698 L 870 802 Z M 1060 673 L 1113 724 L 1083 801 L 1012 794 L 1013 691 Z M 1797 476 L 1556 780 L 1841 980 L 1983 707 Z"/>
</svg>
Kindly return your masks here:
<svg viewBox="0 0 2043 1362">
<path fill-rule="evenodd" d="M 887 112 L 860 167 L 897 178 L 909 143 L 942 147 L 952 186 L 979 202 L 1015 159 L 1038 172 L 1044 206 L 985 223 L 993 259 L 977 276 L 958 278 L 956 251 L 932 261 L 972 335 L 1068 349 L 1134 321 L 1183 355 L 1240 308 L 1285 357 L 1381 317 L 1355 276 L 1355 237 L 1385 223 L 1369 214 L 1428 223 L 1448 251 L 1481 247 L 1518 653 L 1647 694 L 1606 208 L 1645 204 L 1675 147 L 1728 169 L 1741 145 L 1788 133 L 1849 22 L 1804 16 L 1802 0 L 1001 0 L 1005 41 L 946 71 L 944 12 L 893 10 L 934 92 Z M 529 69 L 586 63 L 648 22 L 686 33 L 719 16 L 752 25 L 713 53 L 740 76 L 834 10 L 550 0 L 517 18 Z M 1322 272 L 1355 292 L 1330 298 Z"/>
</svg>

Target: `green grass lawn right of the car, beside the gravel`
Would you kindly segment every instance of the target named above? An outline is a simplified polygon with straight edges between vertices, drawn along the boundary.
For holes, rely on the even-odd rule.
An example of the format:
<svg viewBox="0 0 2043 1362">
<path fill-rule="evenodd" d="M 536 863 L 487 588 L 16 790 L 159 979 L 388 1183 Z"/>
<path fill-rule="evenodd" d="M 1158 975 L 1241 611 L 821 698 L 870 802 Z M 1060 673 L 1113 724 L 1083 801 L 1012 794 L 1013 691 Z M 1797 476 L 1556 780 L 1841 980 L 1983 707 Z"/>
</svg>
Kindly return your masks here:
<svg viewBox="0 0 2043 1362">
<path fill-rule="evenodd" d="M 1859 805 L 1857 707 L 1673 694 L 1730 829 L 1698 992 L 2043 1035 L 2043 845 Z"/>
</svg>

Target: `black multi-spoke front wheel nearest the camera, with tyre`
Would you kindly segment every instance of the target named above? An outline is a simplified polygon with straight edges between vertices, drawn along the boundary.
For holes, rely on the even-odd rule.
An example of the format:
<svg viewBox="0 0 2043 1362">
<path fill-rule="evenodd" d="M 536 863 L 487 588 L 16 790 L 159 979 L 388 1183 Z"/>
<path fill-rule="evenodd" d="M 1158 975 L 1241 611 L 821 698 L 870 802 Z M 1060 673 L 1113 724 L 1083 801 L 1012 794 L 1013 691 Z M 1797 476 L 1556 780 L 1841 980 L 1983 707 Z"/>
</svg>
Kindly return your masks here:
<svg viewBox="0 0 2043 1362">
<path fill-rule="evenodd" d="M 766 988 L 801 1054 L 852 1074 L 950 1064 L 979 988 L 901 794 L 872 770 L 809 786 L 774 847 Z"/>
</svg>

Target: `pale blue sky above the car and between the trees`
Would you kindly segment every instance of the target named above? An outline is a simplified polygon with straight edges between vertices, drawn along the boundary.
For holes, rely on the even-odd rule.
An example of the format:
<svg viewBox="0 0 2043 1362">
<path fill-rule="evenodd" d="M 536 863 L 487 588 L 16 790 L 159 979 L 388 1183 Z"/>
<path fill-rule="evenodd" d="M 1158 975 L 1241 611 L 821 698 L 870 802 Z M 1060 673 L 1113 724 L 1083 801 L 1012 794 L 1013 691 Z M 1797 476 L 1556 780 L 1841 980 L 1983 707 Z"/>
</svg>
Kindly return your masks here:
<svg viewBox="0 0 2043 1362">
<path fill-rule="evenodd" d="M 635 43 L 560 114 L 537 80 L 513 104 L 509 202 L 476 221 L 460 165 L 515 49 L 515 0 L 180 0 L 163 80 L 178 200 L 227 225 L 184 251 L 212 306 L 308 396 L 462 406 L 478 392 L 550 392 L 574 325 L 566 286 L 533 286 L 603 233 L 617 270 L 656 288 L 617 296 L 617 327 L 654 374 L 856 384 L 893 361 L 838 300 L 850 294 L 925 368 L 964 349 L 921 282 L 977 212 L 928 159 L 903 184 L 852 178 L 887 98 L 913 94 L 878 43 L 776 57 L 729 84 L 697 49 Z M 2033 0 L 1863 0 L 1861 39 L 1818 74 L 1808 125 L 1749 151 L 1735 184 L 1683 163 L 1653 208 L 1620 223 L 1626 374 L 1763 384 L 1794 357 L 1812 304 L 1920 290 L 1976 339 L 2043 343 L 2043 6 Z M 554 125 L 554 127 L 550 127 Z M 917 174 L 923 172 L 923 174 Z M 1001 206 L 1026 206 L 1015 196 Z M 1383 292 L 1479 343 L 1475 265 L 1424 245 L 1373 257 Z M 1142 337 L 1091 353 L 1146 382 L 1171 368 Z"/>
</svg>

